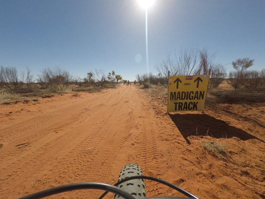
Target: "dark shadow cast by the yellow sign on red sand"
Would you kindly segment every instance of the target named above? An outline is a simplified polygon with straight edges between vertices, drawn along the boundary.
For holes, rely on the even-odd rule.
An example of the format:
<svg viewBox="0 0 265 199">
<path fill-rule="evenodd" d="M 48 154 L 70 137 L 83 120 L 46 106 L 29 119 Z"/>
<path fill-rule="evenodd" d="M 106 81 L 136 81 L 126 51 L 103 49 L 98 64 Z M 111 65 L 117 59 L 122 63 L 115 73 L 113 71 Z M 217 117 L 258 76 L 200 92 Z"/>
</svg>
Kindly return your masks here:
<svg viewBox="0 0 265 199">
<path fill-rule="evenodd" d="M 234 126 L 228 125 L 225 121 L 216 119 L 207 114 L 168 114 L 171 120 L 175 123 L 178 130 L 184 137 L 184 139 L 191 144 L 188 137 L 193 135 L 196 136 L 196 128 L 198 127 L 199 136 L 206 136 L 209 129 L 209 135 L 218 138 L 232 138 L 237 137 L 243 141 L 248 139 L 259 138 L 238 129 Z M 260 140 L 264 142 L 263 140 Z M 264 142 L 265 143 L 265 142 Z"/>
</svg>

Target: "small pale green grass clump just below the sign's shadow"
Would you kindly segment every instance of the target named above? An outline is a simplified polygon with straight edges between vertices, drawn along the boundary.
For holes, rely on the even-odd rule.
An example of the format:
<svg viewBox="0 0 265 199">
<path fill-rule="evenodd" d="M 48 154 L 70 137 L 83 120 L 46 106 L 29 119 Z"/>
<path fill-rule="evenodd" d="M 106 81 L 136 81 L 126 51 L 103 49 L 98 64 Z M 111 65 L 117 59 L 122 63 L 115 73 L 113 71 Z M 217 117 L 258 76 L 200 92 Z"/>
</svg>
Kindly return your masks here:
<svg viewBox="0 0 265 199">
<path fill-rule="evenodd" d="M 206 149 L 209 153 L 221 157 L 225 156 L 227 151 L 227 146 L 225 144 L 218 144 L 215 142 L 201 141 L 201 147 Z"/>
</svg>

